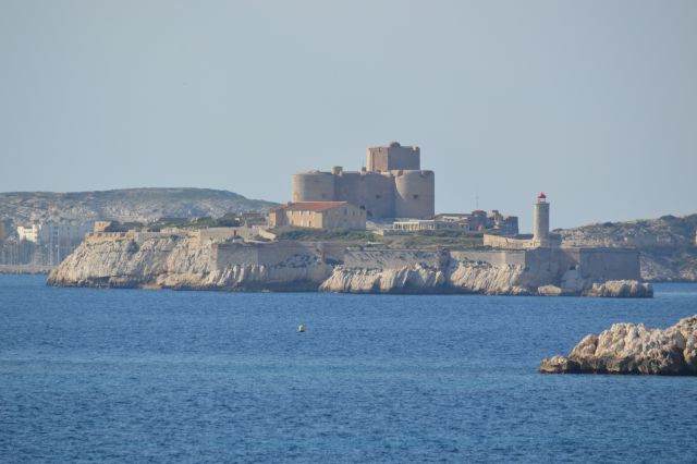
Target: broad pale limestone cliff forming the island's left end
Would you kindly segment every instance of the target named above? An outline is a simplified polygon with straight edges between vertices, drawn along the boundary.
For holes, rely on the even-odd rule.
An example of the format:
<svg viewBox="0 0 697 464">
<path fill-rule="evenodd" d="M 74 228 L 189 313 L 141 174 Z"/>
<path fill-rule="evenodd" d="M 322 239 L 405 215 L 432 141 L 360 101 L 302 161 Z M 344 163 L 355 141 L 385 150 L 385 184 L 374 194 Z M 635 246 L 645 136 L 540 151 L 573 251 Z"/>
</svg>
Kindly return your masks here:
<svg viewBox="0 0 697 464">
<path fill-rule="evenodd" d="M 331 272 L 329 265 L 307 256 L 291 256 L 273 265 L 220 266 L 215 245 L 175 235 L 88 240 L 49 274 L 48 284 L 302 291 L 316 290 Z"/>
</svg>

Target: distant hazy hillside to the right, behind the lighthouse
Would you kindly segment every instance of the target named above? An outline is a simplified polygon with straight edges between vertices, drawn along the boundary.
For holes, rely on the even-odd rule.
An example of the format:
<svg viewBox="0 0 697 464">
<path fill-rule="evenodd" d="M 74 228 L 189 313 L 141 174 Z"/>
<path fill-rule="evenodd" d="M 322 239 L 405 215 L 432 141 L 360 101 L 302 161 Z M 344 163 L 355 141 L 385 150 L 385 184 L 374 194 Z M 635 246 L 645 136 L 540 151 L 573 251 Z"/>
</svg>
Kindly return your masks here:
<svg viewBox="0 0 697 464">
<path fill-rule="evenodd" d="M 636 246 L 647 280 L 697 281 L 697 215 L 603 222 L 559 231 L 565 245 Z"/>
</svg>

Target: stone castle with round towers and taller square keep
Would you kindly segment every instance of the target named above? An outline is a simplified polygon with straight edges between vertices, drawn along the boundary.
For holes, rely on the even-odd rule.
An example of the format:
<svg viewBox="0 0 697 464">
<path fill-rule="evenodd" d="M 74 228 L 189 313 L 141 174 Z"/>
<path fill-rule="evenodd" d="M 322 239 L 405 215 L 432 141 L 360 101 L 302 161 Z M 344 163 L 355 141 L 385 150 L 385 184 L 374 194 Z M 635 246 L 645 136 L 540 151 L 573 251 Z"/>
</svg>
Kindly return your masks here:
<svg viewBox="0 0 697 464">
<path fill-rule="evenodd" d="M 420 168 L 420 149 L 392 142 L 367 150 L 366 168 L 293 175 L 292 202 L 348 202 L 368 219 L 415 218 L 435 215 L 433 171 Z"/>
</svg>

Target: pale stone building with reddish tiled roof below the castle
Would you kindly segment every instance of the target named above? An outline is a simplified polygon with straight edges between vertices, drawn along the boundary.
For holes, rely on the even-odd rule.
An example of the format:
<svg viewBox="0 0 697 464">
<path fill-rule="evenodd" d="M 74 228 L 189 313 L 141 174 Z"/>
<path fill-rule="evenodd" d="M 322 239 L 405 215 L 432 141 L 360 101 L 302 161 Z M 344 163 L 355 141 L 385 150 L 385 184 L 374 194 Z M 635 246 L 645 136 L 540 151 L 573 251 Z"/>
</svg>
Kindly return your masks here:
<svg viewBox="0 0 697 464">
<path fill-rule="evenodd" d="M 289 203 L 269 211 L 269 225 L 365 230 L 366 211 L 347 202 Z"/>
</svg>

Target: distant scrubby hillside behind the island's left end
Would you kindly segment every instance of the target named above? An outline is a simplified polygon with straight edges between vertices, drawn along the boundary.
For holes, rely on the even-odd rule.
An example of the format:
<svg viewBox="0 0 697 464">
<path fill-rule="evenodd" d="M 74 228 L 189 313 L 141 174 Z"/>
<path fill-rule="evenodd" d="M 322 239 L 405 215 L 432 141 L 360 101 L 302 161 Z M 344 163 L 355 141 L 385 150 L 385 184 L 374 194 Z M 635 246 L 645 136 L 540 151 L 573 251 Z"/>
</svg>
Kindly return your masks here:
<svg viewBox="0 0 697 464">
<path fill-rule="evenodd" d="M 0 193 L 0 220 L 34 221 L 115 219 L 151 222 L 161 217 L 220 217 L 260 211 L 276 204 L 209 188 L 124 188 L 115 191 Z"/>
</svg>

